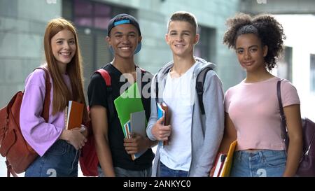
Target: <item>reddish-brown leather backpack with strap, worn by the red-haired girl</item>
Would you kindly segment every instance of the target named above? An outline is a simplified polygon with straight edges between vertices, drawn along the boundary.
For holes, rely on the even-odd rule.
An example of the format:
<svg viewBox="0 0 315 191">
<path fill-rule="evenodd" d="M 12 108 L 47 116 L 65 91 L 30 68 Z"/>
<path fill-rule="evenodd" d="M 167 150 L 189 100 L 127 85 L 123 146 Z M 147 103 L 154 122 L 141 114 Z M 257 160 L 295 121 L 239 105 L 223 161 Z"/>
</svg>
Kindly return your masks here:
<svg viewBox="0 0 315 191">
<path fill-rule="evenodd" d="M 51 83 L 48 70 L 45 71 L 45 99 L 41 116 L 48 122 Z M 8 176 L 24 172 L 31 162 L 34 162 L 38 154 L 25 141 L 20 127 L 20 108 L 23 92 L 17 92 L 7 106 L 0 110 L 0 153 L 6 157 Z"/>
</svg>

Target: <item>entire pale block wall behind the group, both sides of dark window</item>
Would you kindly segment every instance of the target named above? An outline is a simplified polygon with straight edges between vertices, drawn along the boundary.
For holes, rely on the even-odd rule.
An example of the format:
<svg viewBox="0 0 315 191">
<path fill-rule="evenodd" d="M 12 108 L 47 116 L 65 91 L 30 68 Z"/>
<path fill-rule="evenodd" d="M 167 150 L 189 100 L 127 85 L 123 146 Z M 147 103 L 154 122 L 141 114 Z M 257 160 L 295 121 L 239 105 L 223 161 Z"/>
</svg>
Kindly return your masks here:
<svg viewBox="0 0 315 191">
<path fill-rule="evenodd" d="M 143 49 L 136 55 L 140 66 L 155 73 L 172 60 L 165 43 L 167 20 L 177 10 L 196 15 L 204 27 L 215 29 L 213 59 L 224 89 L 243 77 L 232 51 L 222 44 L 225 20 L 237 12 L 239 0 L 99 0 L 135 10 L 144 36 Z M 62 0 L 0 1 L 0 107 L 14 92 L 23 90 L 27 75 L 43 60 L 43 33 L 48 20 L 62 15 Z M 89 78 L 90 76 L 85 76 Z"/>
</svg>

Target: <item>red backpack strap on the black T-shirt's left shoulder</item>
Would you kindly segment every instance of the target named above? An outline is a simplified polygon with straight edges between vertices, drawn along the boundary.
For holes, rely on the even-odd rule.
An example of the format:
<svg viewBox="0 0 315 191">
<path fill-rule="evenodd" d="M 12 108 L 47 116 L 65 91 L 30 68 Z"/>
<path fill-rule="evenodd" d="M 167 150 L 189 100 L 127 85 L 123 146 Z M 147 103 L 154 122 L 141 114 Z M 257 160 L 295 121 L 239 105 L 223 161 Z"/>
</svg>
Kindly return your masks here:
<svg viewBox="0 0 315 191">
<path fill-rule="evenodd" d="M 113 88 L 111 87 L 111 76 L 109 75 L 109 72 L 106 71 L 105 69 L 99 69 L 97 71 L 95 71 L 95 73 L 99 73 L 102 78 L 105 81 L 106 84 L 106 90 L 107 90 L 107 103 L 109 104 L 109 122 L 111 122 L 113 120 L 113 116 L 115 114 L 115 110 L 113 107 Z"/>
</svg>

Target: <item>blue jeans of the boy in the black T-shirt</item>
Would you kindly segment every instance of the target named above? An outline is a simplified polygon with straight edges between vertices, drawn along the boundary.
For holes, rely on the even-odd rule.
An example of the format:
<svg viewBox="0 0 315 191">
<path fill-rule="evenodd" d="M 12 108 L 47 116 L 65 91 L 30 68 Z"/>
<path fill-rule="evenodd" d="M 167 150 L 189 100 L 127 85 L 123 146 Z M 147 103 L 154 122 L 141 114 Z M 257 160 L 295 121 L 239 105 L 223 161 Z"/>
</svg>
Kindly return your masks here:
<svg viewBox="0 0 315 191">
<path fill-rule="evenodd" d="M 105 176 L 100 165 L 97 167 L 97 171 L 99 172 L 99 177 Z M 152 167 L 140 171 L 132 171 L 120 167 L 114 167 L 114 171 L 116 177 L 151 177 L 152 175 Z"/>
</svg>

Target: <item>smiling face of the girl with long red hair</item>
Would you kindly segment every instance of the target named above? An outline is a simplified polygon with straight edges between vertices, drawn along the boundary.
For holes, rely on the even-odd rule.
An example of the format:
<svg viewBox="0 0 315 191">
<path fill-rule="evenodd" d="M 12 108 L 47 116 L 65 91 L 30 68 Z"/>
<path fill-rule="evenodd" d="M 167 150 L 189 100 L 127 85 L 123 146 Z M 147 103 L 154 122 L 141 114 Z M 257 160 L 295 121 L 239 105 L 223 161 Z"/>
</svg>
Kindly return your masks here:
<svg viewBox="0 0 315 191">
<path fill-rule="evenodd" d="M 76 40 L 71 31 L 64 29 L 51 38 L 52 54 L 58 66 L 66 66 L 76 54 Z"/>
</svg>

